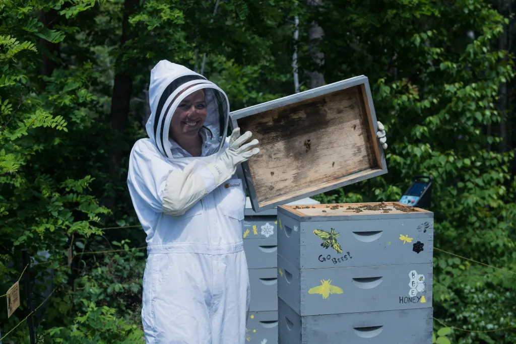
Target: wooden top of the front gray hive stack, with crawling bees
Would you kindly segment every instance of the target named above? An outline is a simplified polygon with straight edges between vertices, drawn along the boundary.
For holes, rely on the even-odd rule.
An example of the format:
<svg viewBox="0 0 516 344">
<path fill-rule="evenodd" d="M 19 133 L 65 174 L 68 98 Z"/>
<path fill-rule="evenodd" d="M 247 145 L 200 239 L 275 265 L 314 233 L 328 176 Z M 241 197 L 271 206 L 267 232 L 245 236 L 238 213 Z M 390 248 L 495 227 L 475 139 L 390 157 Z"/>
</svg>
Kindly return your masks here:
<svg viewBox="0 0 516 344">
<path fill-rule="evenodd" d="M 315 208 L 323 208 L 326 209 L 327 206 L 333 206 L 333 205 L 343 205 L 345 207 L 352 206 L 352 207 L 358 207 L 361 205 L 378 205 L 380 202 L 374 202 L 374 203 L 344 203 L 344 204 L 320 204 L 320 205 L 297 205 L 298 207 L 302 206 L 310 206 L 310 209 L 312 207 Z M 402 204 L 400 202 L 384 202 L 385 205 L 398 205 L 404 208 L 408 208 L 405 204 Z M 333 214 L 322 214 L 322 215 L 307 215 L 303 213 L 303 209 L 296 209 L 296 205 L 282 205 L 278 206 L 278 212 L 281 212 L 281 214 L 287 215 L 291 218 L 294 218 L 300 222 L 310 221 L 356 221 L 356 220 L 386 220 L 386 219 L 407 219 L 407 218 L 433 218 L 433 212 L 421 209 L 421 208 L 413 208 L 416 211 L 408 211 L 408 212 L 377 212 L 375 214 L 361 214 L 347 211 L 344 212 L 341 209 L 345 208 L 338 208 L 338 210 L 343 211 L 342 215 L 333 215 Z"/>
</svg>

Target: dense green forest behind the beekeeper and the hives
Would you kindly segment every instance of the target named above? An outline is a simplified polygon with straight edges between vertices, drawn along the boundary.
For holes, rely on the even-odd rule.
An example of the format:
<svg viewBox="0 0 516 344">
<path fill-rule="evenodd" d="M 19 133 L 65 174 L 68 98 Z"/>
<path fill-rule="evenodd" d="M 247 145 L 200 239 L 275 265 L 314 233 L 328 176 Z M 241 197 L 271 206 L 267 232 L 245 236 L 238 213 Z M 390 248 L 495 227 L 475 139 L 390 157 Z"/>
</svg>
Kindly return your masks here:
<svg viewBox="0 0 516 344">
<path fill-rule="evenodd" d="M 35 312 L 39 343 L 142 342 L 146 251 L 126 174 L 162 59 L 214 81 L 232 110 L 366 75 L 389 173 L 316 198 L 396 201 L 430 174 L 436 247 L 516 271 L 514 5 L 0 0 L 0 294 L 27 249 L 34 304 L 52 292 Z M 516 342 L 507 271 L 436 250 L 435 329 L 457 327 L 447 337 L 460 344 Z M 29 314 L 22 283 L 21 296 L 10 318 L 0 298 L 6 343 L 29 342 L 26 320 L 16 327 Z"/>
</svg>

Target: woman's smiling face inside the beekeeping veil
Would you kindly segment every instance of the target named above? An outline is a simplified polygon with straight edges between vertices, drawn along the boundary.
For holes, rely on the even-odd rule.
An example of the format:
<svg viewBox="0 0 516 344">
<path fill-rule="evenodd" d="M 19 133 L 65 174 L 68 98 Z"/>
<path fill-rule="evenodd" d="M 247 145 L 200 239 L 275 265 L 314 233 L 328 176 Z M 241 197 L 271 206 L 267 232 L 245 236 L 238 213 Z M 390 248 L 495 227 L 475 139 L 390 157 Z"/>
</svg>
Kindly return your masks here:
<svg viewBox="0 0 516 344">
<path fill-rule="evenodd" d="M 179 95 L 178 95 L 179 96 Z M 188 95 L 179 103 L 170 121 L 170 136 L 197 136 L 206 120 L 204 90 Z"/>
</svg>

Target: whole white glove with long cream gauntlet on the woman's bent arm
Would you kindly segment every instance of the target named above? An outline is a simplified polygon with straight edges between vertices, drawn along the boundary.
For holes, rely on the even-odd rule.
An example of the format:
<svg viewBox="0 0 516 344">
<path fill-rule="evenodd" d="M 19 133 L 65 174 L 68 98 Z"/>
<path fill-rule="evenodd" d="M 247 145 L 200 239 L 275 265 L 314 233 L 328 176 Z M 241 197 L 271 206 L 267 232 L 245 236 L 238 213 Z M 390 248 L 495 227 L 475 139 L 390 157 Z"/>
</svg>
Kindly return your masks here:
<svg viewBox="0 0 516 344">
<path fill-rule="evenodd" d="M 205 195 L 231 178 L 240 163 L 260 153 L 259 149 L 253 149 L 258 140 L 244 144 L 251 136 L 250 132 L 240 136 L 240 128 L 236 128 L 231 134 L 229 148 L 214 163 L 194 160 L 183 171 L 172 171 L 163 190 L 163 212 L 171 216 L 185 214 Z"/>
</svg>

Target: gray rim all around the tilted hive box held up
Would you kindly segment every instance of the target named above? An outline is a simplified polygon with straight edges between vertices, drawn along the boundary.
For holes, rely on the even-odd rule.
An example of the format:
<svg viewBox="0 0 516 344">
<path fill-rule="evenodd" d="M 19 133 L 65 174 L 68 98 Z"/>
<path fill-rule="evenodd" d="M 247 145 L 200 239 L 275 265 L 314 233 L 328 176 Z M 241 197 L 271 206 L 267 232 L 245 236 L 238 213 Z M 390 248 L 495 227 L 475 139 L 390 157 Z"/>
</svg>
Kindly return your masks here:
<svg viewBox="0 0 516 344">
<path fill-rule="evenodd" d="M 321 86 L 321 87 L 307 90 L 304 92 L 300 92 L 300 93 L 292 94 L 292 95 L 289 95 L 286 97 L 282 97 L 277 100 L 273 100 L 273 101 L 269 101 L 266 103 L 262 103 L 262 104 L 250 106 L 250 107 L 247 107 L 244 109 L 233 111 L 230 113 L 230 119 L 231 119 L 230 125 L 231 125 L 231 128 L 234 129 L 234 128 L 238 127 L 237 121 L 239 119 L 243 119 L 243 118 L 246 118 L 249 116 L 253 116 L 254 114 L 257 114 L 257 113 L 266 112 L 266 111 L 273 110 L 276 108 L 285 107 L 285 106 L 299 103 L 299 102 L 302 102 L 305 100 L 313 99 L 318 96 L 330 94 L 330 93 L 333 93 L 336 91 L 341 91 L 341 90 L 345 90 L 345 89 L 360 86 L 360 85 L 363 85 L 362 86 L 363 92 L 364 92 L 363 95 L 365 97 L 364 102 L 366 103 L 366 106 L 368 106 L 368 108 L 369 108 L 370 121 L 372 121 L 372 123 L 371 123 L 372 129 L 374 129 L 376 132 L 378 130 L 377 123 L 376 123 L 376 121 L 377 121 L 376 113 L 375 113 L 375 109 L 374 109 L 374 104 L 372 102 L 372 95 L 371 95 L 370 88 L 369 88 L 368 78 L 365 75 L 360 75 L 360 76 L 352 77 L 352 78 L 349 78 L 346 80 L 337 81 L 336 83 L 333 83 L 333 84 Z M 376 139 L 376 135 L 373 135 L 373 136 L 374 136 L 374 139 Z M 257 214 L 260 214 L 264 211 L 268 213 L 269 209 L 276 208 L 277 206 L 279 206 L 281 204 L 287 204 L 287 203 L 299 201 L 304 198 L 313 196 L 315 194 L 324 193 L 327 191 L 334 190 L 335 188 L 338 188 L 338 187 L 358 183 L 358 182 L 364 181 L 365 179 L 369 179 L 369 178 L 373 178 L 373 177 L 377 177 L 382 174 L 385 174 L 385 173 L 387 173 L 387 166 L 386 166 L 385 156 L 384 156 L 383 150 L 381 148 L 381 145 L 379 145 L 377 147 L 377 151 L 378 151 L 377 159 L 379 160 L 378 161 L 379 162 L 378 170 L 374 170 L 374 171 L 370 171 L 370 172 L 367 172 L 367 171 L 356 172 L 356 173 L 350 174 L 349 179 L 347 179 L 346 181 L 343 181 L 340 183 L 331 183 L 331 182 L 330 183 L 322 183 L 320 185 L 320 188 L 318 188 L 315 191 L 314 190 L 307 191 L 307 192 L 300 193 L 300 194 L 298 193 L 297 195 L 293 194 L 292 196 L 286 197 L 285 199 L 278 200 L 275 202 L 269 202 L 269 203 L 266 203 L 263 205 L 260 205 L 259 201 L 257 200 L 256 192 L 254 190 L 254 185 L 253 185 L 253 183 L 251 181 L 251 177 L 250 177 L 249 163 L 246 161 L 242 164 L 242 167 L 244 170 L 244 176 L 246 179 L 247 189 L 248 189 L 249 196 L 251 199 L 252 209 Z M 288 194 L 285 194 L 285 196 L 288 196 Z M 265 213 L 263 215 L 265 215 Z"/>
</svg>

